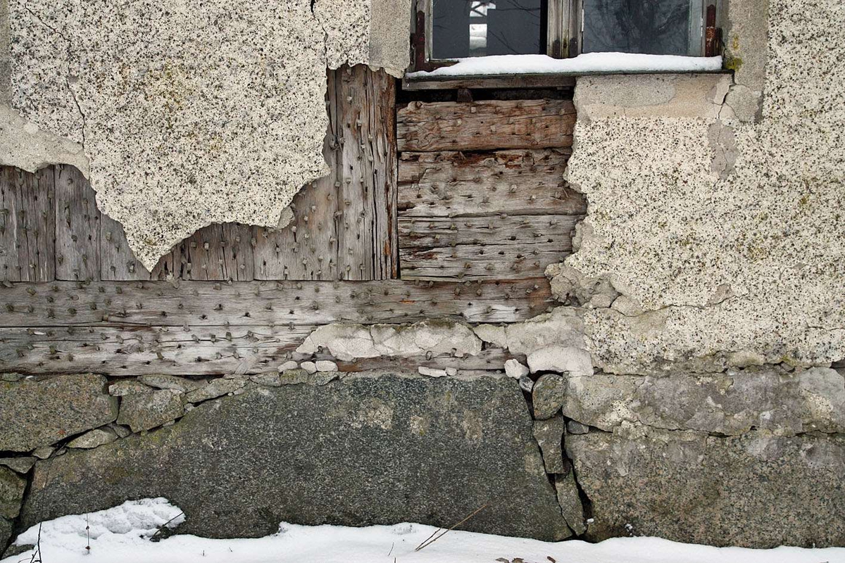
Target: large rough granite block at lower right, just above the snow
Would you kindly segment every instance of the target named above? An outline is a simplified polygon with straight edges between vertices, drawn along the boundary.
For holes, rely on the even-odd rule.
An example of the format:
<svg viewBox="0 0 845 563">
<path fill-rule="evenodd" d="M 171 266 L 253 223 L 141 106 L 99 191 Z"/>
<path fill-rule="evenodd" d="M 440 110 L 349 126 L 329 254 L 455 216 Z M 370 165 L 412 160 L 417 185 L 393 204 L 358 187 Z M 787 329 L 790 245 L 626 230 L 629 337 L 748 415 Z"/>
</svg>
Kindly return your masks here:
<svg viewBox="0 0 845 563">
<path fill-rule="evenodd" d="M 566 436 L 591 501 L 587 537 L 771 548 L 845 545 L 845 439 L 623 425 Z"/>
</svg>

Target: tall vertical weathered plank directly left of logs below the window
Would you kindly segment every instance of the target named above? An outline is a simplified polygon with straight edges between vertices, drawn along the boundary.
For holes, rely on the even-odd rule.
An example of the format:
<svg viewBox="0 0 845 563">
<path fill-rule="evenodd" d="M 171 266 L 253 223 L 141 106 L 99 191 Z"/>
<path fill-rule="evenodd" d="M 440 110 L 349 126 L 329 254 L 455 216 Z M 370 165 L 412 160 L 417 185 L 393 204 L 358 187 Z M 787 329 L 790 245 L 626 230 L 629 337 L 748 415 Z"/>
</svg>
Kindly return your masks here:
<svg viewBox="0 0 845 563">
<path fill-rule="evenodd" d="M 390 279 L 395 238 L 395 79 L 363 65 L 336 80 L 341 143 L 341 279 Z"/>
</svg>

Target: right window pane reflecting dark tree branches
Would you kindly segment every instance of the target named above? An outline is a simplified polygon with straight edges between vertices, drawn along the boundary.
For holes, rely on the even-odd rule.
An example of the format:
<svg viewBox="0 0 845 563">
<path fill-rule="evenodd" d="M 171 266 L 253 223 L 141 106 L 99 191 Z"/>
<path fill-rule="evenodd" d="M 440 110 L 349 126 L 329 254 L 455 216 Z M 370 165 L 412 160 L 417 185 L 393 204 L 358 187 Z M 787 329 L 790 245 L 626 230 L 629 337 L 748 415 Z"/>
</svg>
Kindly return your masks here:
<svg viewBox="0 0 845 563">
<path fill-rule="evenodd" d="M 584 0 L 583 52 L 701 55 L 701 0 Z"/>
</svg>

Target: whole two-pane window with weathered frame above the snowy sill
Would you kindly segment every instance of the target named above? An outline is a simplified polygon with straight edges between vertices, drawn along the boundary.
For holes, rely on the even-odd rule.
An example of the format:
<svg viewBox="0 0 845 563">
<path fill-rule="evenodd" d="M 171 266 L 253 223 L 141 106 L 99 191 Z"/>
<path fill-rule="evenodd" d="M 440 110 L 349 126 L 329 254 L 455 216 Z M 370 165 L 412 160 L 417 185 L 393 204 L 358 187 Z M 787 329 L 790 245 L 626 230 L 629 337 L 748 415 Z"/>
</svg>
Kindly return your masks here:
<svg viewBox="0 0 845 563">
<path fill-rule="evenodd" d="M 706 41 L 715 20 L 712 0 L 417 0 L 415 66 L 606 51 L 701 57 L 716 54 Z"/>
</svg>

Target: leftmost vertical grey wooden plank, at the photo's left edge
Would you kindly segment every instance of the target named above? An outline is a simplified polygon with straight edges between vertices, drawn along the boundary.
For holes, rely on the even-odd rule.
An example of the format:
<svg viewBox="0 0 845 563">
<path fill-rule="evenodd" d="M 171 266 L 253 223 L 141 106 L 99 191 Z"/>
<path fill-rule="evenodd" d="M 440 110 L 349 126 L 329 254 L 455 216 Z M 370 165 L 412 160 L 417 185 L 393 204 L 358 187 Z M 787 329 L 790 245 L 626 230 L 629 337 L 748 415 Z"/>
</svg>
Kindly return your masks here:
<svg viewBox="0 0 845 563">
<path fill-rule="evenodd" d="M 56 278 L 56 213 L 52 168 L 30 174 L 0 170 L 0 280 Z"/>
</svg>

